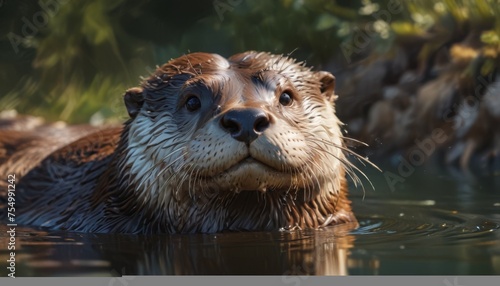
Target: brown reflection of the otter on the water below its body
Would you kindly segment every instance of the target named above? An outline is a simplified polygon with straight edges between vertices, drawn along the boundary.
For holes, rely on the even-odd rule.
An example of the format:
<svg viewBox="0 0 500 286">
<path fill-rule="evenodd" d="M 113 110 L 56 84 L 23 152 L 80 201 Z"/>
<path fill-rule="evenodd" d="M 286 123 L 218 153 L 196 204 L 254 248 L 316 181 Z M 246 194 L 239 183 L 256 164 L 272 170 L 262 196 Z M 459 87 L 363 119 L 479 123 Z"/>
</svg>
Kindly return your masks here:
<svg viewBox="0 0 500 286">
<path fill-rule="evenodd" d="M 62 232 L 22 229 L 18 275 L 346 275 L 354 242 L 349 232 L 354 227 L 216 235 L 71 234 L 70 238 Z"/>
</svg>

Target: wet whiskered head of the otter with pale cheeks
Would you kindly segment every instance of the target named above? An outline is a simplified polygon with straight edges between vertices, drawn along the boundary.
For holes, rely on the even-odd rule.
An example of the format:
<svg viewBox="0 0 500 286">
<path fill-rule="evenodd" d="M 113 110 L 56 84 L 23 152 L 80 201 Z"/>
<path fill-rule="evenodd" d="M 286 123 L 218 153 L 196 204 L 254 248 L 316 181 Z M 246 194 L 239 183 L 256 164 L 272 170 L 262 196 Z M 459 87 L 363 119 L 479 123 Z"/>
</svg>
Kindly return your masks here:
<svg viewBox="0 0 500 286">
<path fill-rule="evenodd" d="M 173 59 L 125 94 L 131 117 L 121 162 L 125 184 L 142 204 L 184 224 L 183 212 L 209 216 L 209 208 L 219 209 L 213 222 L 221 221 L 219 230 L 236 224 L 233 205 L 244 193 L 274 205 L 269 214 L 269 206 L 253 206 L 269 216 L 264 220 L 276 220 L 271 225 L 324 224 L 345 197 L 334 87 L 332 74 L 281 55 Z M 289 210 L 280 213 L 280 204 Z"/>
</svg>

